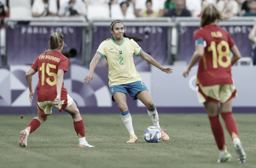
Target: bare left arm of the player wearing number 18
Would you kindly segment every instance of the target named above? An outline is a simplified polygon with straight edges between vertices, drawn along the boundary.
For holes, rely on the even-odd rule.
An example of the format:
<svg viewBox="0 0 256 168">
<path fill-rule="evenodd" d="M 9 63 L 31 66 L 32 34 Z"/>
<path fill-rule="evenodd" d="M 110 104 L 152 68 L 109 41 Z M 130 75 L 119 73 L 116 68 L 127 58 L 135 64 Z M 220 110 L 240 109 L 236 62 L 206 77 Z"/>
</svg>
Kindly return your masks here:
<svg viewBox="0 0 256 168">
<path fill-rule="evenodd" d="M 191 70 L 191 68 L 201 59 L 201 57 L 203 56 L 204 53 L 204 46 L 203 44 L 198 44 L 195 47 L 195 52 L 189 62 L 189 65 L 187 66 L 187 68 L 183 71 L 183 76 L 187 77 L 189 76 L 189 71 Z"/>
</svg>

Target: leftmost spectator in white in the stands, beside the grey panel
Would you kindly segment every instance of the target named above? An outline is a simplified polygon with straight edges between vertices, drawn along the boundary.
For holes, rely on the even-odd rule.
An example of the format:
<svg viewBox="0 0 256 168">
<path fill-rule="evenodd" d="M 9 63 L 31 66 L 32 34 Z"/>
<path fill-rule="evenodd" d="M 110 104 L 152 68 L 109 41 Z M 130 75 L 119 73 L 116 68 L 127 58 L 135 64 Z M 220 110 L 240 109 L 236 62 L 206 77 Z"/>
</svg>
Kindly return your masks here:
<svg viewBox="0 0 256 168">
<path fill-rule="evenodd" d="M 57 15 L 57 11 L 56 0 L 35 0 L 32 5 L 32 17 Z"/>
</svg>

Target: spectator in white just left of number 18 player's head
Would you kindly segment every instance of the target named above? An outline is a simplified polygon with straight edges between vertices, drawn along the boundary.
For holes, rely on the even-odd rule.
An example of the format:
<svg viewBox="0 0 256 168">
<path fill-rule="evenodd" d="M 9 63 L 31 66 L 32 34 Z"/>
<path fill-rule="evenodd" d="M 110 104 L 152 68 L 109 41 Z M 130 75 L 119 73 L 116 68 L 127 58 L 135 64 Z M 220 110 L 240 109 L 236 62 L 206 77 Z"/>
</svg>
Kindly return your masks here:
<svg viewBox="0 0 256 168">
<path fill-rule="evenodd" d="M 192 17 L 199 17 L 201 12 L 201 0 L 186 0 L 186 7 Z"/>
</svg>

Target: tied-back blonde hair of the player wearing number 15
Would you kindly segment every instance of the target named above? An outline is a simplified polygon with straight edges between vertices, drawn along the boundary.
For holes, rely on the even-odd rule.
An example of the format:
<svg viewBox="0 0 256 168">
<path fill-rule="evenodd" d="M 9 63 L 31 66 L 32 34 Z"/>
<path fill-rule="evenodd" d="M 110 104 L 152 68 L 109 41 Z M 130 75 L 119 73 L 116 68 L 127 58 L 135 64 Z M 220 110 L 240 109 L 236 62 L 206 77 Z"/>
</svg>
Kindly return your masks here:
<svg viewBox="0 0 256 168">
<path fill-rule="evenodd" d="M 54 32 L 51 34 L 50 40 L 49 40 L 50 49 L 46 50 L 45 52 L 55 52 L 55 51 L 61 50 L 62 45 L 66 46 L 66 44 L 64 43 L 63 34 L 59 32 Z"/>
</svg>

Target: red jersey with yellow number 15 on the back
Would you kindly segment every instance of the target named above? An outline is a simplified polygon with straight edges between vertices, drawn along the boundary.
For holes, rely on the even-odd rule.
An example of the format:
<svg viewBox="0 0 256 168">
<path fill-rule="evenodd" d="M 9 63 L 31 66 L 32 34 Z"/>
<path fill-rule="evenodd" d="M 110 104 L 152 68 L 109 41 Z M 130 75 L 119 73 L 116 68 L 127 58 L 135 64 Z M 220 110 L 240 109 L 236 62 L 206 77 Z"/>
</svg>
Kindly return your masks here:
<svg viewBox="0 0 256 168">
<path fill-rule="evenodd" d="M 63 69 L 67 72 L 69 60 L 61 52 L 44 52 L 40 54 L 31 66 L 38 71 L 37 101 L 54 101 L 57 97 L 57 72 Z M 61 87 L 61 100 L 67 99 L 67 89 L 64 83 Z"/>
</svg>

